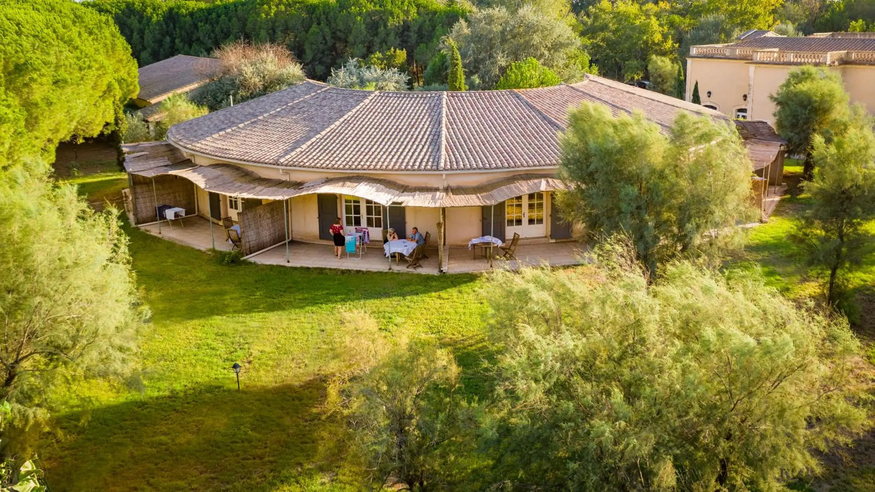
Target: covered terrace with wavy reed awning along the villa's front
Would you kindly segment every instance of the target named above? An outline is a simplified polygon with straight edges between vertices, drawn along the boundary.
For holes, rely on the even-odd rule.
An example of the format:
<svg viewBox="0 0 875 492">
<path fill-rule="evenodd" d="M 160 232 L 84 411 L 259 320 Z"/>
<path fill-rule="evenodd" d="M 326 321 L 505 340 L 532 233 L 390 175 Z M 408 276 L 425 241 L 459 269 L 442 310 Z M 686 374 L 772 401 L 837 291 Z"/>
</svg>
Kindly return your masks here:
<svg viewBox="0 0 875 492">
<path fill-rule="evenodd" d="M 486 210 L 494 213 L 495 205 L 504 200 L 527 193 L 563 189 L 561 180 L 544 174 L 517 174 L 480 186 L 443 188 L 405 186 L 370 176 L 339 176 L 301 183 L 263 178 L 237 165 L 195 165 L 164 143 L 131 144 L 125 150 L 129 152 L 125 167 L 130 175 L 126 208 L 131 221 L 147 232 L 201 250 L 232 249 L 222 225 L 224 217 L 221 213 L 216 214 L 213 200 L 215 193 L 221 193 L 247 203 L 234 221 L 242 240 L 237 246 L 244 257 L 255 263 L 437 273 L 517 268 L 523 264 L 544 262 L 565 265 L 580 261 L 577 242 L 549 242 L 546 238 L 522 241 L 514 251 L 515 258 L 509 262 L 493 259 L 503 253 L 497 248 L 490 257 L 482 254 L 483 249 L 472 251 L 446 245 L 444 231 L 453 227 L 452 220 L 447 221 L 447 208 L 482 207 L 484 214 Z M 296 210 L 291 200 L 314 194 L 360 197 L 384 208 L 434 209 L 437 223 L 433 227 L 421 224 L 423 232 L 433 231 L 430 248 L 426 249 L 427 258 L 421 260 L 423 268 L 407 269 L 403 259 L 390 261 L 383 254 L 380 236 L 372 237 L 371 245 L 364 249 L 364 253 L 342 260 L 332 256 L 330 242 L 294 240 L 293 216 L 302 214 L 302 211 Z M 166 220 L 161 215 L 161 208 L 168 206 L 182 209 L 182 218 Z M 489 217 L 490 227 L 493 224 L 500 226 L 503 214 L 502 209 L 500 215 L 494 215 L 494 220 Z M 391 214 L 383 216 L 386 222 L 381 223 L 381 228 L 391 227 Z M 491 229 L 485 230 L 491 232 Z"/>
</svg>

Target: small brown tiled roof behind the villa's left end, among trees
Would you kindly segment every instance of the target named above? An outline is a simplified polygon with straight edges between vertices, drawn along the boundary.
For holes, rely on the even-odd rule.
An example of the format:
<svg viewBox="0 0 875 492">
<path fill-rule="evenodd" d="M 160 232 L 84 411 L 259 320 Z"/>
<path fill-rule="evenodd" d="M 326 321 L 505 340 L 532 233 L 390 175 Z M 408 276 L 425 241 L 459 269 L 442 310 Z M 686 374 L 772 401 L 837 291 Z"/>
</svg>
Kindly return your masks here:
<svg viewBox="0 0 875 492">
<path fill-rule="evenodd" d="M 137 99 L 154 104 L 170 95 L 187 92 L 212 79 L 220 67 L 220 60 L 184 54 L 140 67 Z"/>
</svg>

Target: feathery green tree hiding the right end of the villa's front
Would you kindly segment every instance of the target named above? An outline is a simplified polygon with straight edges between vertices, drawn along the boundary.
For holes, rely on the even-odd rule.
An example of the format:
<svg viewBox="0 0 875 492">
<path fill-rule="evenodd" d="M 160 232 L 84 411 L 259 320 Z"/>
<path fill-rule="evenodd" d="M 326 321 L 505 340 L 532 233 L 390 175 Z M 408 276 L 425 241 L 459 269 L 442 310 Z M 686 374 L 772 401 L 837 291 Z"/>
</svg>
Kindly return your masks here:
<svg viewBox="0 0 875 492">
<path fill-rule="evenodd" d="M 625 231 L 651 274 L 678 256 L 715 257 L 751 217 L 752 165 L 725 123 L 681 113 L 664 137 L 641 113 L 584 103 L 561 145 L 563 210 L 593 239 Z"/>
</svg>

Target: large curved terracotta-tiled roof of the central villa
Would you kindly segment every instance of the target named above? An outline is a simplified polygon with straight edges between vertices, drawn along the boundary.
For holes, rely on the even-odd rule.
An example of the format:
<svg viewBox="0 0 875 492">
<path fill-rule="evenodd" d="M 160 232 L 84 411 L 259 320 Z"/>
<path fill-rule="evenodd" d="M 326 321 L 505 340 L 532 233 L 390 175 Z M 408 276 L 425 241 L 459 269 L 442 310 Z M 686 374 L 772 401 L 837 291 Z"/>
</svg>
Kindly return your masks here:
<svg viewBox="0 0 875 492">
<path fill-rule="evenodd" d="M 553 167 L 568 109 L 639 109 L 663 132 L 679 113 L 718 111 L 587 75 L 550 88 L 382 92 L 316 81 L 174 125 L 172 144 L 256 165 L 344 172 L 456 172 Z"/>
</svg>

